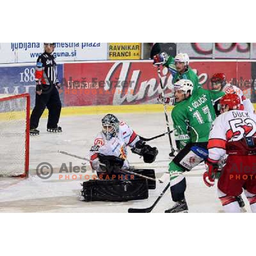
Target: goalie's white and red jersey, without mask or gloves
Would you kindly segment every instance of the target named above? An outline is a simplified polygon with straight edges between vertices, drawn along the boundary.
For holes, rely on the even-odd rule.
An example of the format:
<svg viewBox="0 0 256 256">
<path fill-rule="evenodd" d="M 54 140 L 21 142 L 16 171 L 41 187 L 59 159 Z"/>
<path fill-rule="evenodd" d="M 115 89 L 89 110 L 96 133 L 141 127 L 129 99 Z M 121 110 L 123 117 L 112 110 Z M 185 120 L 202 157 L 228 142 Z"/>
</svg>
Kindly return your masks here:
<svg viewBox="0 0 256 256">
<path fill-rule="evenodd" d="M 124 169 L 129 168 L 127 160 L 127 146 L 133 148 L 140 138 L 124 121 L 119 122 L 119 132 L 116 137 L 107 140 L 103 132 L 99 132 L 90 149 L 90 160 L 98 160 L 98 154 L 120 157 L 124 160 Z M 91 164 L 93 169 L 99 170 L 97 163 Z"/>
</svg>

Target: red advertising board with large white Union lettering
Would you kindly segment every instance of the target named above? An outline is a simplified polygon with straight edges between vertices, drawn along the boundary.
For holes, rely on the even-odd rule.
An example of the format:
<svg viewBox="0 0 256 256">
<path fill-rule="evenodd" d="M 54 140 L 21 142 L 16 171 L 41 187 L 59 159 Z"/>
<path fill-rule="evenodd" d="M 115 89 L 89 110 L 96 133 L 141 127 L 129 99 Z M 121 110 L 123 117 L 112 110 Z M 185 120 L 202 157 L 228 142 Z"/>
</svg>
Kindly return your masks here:
<svg viewBox="0 0 256 256">
<path fill-rule="evenodd" d="M 240 88 L 251 79 L 250 62 L 200 61 L 191 67 L 204 88 L 216 72 L 225 73 L 228 82 L 238 80 Z M 165 93 L 170 93 L 172 75 L 164 69 L 162 77 Z M 66 106 L 151 104 L 161 93 L 157 68 L 149 61 L 64 64 L 63 84 Z"/>
</svg>

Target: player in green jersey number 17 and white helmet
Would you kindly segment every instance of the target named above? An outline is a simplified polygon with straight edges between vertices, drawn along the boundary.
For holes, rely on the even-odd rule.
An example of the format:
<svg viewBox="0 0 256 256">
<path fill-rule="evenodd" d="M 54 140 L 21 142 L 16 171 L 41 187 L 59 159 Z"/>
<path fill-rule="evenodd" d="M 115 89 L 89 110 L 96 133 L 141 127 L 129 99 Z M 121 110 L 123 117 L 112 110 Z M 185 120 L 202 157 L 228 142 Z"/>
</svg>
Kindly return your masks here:
<svg viewBox="0 0 256 256">
<path fill-rule="evenodd" d="M 185 200 L 186 178 L 183 172 L 190 171 L 207 157 L 209 132 L 216 117 L 213 104 L 225 94 L 193 88 L 192 81 L 187 79 L 174 84 L 178 104 L 172 110 L 172 120 L 180 151 L 169 164 L 171 194 L 175 205 L 165 212 L 188 211 Z"/>
</svg>

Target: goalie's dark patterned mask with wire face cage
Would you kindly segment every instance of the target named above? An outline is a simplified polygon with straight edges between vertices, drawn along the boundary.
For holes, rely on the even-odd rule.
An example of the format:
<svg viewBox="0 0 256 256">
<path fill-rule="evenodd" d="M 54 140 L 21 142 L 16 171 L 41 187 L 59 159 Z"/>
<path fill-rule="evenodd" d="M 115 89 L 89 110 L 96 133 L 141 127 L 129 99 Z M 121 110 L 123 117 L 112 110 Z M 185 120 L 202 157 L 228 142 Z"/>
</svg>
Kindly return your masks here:
<svg viewBox="0 0 256 256">
<path fill-rule="evenodd" d="M 102 132 L 107 140 L 116 137 L 119 132 L 119 120 L 112 114 L 107 114 L 102 118 Z"/>
</svg>

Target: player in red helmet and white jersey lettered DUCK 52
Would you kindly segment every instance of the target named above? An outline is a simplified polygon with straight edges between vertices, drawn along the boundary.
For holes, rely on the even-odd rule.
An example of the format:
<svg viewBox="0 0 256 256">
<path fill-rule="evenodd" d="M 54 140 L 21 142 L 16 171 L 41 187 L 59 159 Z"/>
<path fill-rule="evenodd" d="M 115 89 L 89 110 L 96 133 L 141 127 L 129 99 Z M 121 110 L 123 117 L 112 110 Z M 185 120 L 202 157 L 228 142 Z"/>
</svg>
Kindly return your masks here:
<svg viewBox="0 0 256 256">
<path fill-rule="evenodd" d="M 225 212 L 241 212 L 236 196 L 243 189 L 252 212 L 256 212 L 256 115 L 240 110 L 236 94 L 226 94 L 221 100 L 221 115 L 215 119 L 209 136 L 208 171 L 204 182 L 213 186 L 218 161 L 228 155 L 218 179 L 218 196 Z"/>
</svg>

